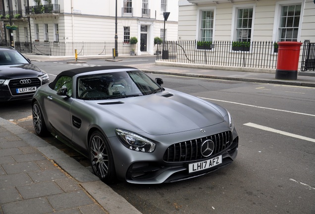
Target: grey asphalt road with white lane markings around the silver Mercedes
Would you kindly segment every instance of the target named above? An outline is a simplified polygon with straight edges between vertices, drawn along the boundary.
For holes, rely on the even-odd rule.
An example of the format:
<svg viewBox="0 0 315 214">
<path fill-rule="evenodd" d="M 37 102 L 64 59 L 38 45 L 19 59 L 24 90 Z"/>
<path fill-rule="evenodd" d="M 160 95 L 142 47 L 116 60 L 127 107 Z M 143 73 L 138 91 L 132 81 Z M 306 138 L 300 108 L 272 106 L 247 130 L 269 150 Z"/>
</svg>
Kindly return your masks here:
<svg viewBox="0 0 315 214">
<path fill-rule="evenodd" d="M 87 60 L 86 65 L 62 61 L 34 64 L 53 79 L 64 69 L 108 63 Z M 231 165 L 190 180 L 111 185 L 118 194 L 143 214 L 315 214 L 314 88 L 150 76 L 162 78 L 164 87 L 227 108 L 240 137 L 239 154 Z M 29 101 L 1 105 L 0 117 L 34 132 Z M 62 143 L 47 140 L 88 166 L 84 157 Z"/>
</svg>

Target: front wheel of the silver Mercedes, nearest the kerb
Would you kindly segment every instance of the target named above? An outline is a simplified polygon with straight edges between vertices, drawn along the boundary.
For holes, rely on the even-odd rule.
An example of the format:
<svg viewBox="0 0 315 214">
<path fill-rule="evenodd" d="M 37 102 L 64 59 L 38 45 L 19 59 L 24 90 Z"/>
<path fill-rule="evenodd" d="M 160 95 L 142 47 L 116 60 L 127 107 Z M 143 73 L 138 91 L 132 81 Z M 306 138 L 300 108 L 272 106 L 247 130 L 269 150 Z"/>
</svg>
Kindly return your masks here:
<svg viewBox="0 0 315 214">
<path fill-rule="evenodd" d="M 109 184 L 116 180 L 114 160 L 104 135 L 95 131 L 89 142 L 90 163 L 94 174 Z"/>
</svg>

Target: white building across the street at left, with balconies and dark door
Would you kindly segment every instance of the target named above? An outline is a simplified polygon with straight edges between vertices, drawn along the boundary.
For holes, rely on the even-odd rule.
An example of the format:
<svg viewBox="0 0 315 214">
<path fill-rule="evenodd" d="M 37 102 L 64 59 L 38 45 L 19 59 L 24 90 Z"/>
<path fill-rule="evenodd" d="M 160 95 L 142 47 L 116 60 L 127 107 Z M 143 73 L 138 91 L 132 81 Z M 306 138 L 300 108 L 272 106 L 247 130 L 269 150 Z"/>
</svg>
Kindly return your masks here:
<svg viewBox="0 0 315 214">
<path fill-rule="evenodd" d="M 118 42 L 129 43 L 137 37 L 136 52 L 154 54 L 154 38 L 177 39 L 177 0 L 0 0 L 2 19 L 17 26 L 14 41 L 114 42 L 117 6 Z M 10 4 L 10 6 L 8 5 Z M 21 17 L 15 17 L 20 14 Z M 2 34 L 9 40 L 9 33 Z M 6 35 L 6 36 L 5 36 Z M 2 39 L 4 39 L 2 36 Z"/>
</svg>

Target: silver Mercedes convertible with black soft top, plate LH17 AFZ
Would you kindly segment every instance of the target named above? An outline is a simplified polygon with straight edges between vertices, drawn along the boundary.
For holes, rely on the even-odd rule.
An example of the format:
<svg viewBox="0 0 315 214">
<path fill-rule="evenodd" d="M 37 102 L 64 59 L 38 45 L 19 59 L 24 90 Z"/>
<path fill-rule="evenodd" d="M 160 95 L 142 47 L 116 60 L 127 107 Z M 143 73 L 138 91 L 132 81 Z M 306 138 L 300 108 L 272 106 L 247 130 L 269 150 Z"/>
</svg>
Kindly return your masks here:
<svg viewBox="0 0 315 214">
<path fill-rule="evenodd" d="M 126 66 L 62 71 L 33 96 L 35 131 L 88 157 L 106 183 L 173 182 L 230 164 L 238 151 L 230 113 L 162 83 Z"/>
</svg>

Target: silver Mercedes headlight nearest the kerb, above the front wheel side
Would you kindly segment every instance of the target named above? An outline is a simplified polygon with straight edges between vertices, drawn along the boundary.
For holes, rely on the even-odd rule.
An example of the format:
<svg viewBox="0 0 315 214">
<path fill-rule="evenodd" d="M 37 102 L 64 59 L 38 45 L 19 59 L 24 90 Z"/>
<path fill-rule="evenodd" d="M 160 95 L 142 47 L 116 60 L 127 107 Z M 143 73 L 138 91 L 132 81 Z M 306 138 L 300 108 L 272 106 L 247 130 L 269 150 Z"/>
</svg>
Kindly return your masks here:
<svg viewBox="0 0 315 214">
<path fill-rule="evenodd" d="M 156 149 L 154 142 L 138 134 L 118 128 L 115 129 L 115 132 L 120 142 L 130 150 L 153 153 Z"/>
</svg>

